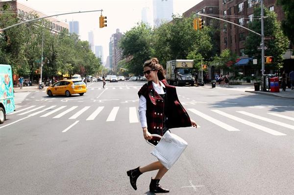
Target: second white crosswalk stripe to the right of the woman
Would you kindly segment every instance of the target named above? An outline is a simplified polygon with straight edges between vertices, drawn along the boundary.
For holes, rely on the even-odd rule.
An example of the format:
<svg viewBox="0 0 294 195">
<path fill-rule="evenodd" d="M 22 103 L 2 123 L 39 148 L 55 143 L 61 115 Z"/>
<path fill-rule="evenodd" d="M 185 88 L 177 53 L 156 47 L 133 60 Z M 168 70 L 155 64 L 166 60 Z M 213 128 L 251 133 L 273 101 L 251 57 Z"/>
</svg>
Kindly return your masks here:
<svg viewBox="0 0 294 195">
<path fill-rule="evenodd" d="M 227 113 L 222 112 L 222 111 L 217 110 L 217 109 L 213 109 L 213 110 L 211 110 L 211 111 L 214 111 L 214 112 L 216 112 L 216 113 L 218 113 L 218 114 L 221 114 L 221 116 L 226 116 L 226 117 L 228 117 L 228 118 L 230 118 L 230 119 L 233 119 L 233 120 L 238 121 L 238 122 L 240 122 L 240 123 L 243 123 L 243 124 L 245 124 L 245 125 L 251 126 L 251 127 L 256 128 L 256 129 L 258 129 L 258 130 L 262 130 L 262 131 L 264 131 L 264 132 L 270 133 L 270 134 L 272 134 L 272 135 L 286 135 L 286 134 L 281 133 L 281 132 L 279 132 L 279 131 L 272 130 L 272 129 L 270 129 L 270 128 L 267 128 L 267 127 L 264 127 L 264 126 L 261 126 L 261 125 L 258 125 L 258 124 L 255 124 L 255 123 L 252 123 L 252 122 L 250 122 L 250 121 L 246 121 L 246 120 L 244 120 L 244 119 L 242 119 L 242 118 L 239 118 L 239 117 L 233 116 L 233 115 L 231 115 L 231 114 L 227 114 Z"/>
</svg>

